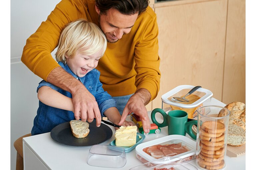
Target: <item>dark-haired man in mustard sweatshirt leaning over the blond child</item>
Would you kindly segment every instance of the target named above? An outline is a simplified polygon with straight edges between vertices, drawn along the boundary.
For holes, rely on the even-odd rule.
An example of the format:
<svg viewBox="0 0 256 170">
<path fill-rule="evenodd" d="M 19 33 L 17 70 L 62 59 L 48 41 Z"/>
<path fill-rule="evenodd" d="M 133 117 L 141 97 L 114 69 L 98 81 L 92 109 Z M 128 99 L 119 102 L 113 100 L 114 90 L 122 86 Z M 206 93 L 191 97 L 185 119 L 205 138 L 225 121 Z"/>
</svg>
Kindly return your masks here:
<svg viewBox="0 0 256 170">
<path fill-rule="evenodd" d="M 76 119 L 92 122 L 96 118 L 100 126 L 95 98 L 51 56 L 68 23 L 80 18 L 95 23 L 108 41 L 97 69 L 104 90 L 117 100 L 122 113 L 119 125 L 134 113 L 147 133 L 150 122 L 145 105 L 157 96 L 160 84 L 156 14 L 148 0 L 95 1 L 62 0 L 28 38 L 21 60 L 35 74 L 72 94 Z"/>
</svg>

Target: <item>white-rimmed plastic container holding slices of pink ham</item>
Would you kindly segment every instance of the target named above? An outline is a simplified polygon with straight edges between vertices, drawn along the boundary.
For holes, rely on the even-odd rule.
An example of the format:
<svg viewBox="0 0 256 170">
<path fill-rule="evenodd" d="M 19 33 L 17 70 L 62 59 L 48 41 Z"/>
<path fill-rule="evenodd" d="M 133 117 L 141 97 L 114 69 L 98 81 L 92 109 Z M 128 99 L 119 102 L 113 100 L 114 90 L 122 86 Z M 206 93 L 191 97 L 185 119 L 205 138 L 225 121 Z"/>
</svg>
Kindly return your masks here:
<svg viewBox="0 0 256 170">
<path fill-rule="evenodd" d="M 183 135 L 168 135 L 136 146 L 136 157 L 142 163 L 163 164 L 178 161 L 179 158 L 191 160 L 195 158 L 196 142 Z M 172 156 L 163 161 L 161 158 Z"/>
</svg>

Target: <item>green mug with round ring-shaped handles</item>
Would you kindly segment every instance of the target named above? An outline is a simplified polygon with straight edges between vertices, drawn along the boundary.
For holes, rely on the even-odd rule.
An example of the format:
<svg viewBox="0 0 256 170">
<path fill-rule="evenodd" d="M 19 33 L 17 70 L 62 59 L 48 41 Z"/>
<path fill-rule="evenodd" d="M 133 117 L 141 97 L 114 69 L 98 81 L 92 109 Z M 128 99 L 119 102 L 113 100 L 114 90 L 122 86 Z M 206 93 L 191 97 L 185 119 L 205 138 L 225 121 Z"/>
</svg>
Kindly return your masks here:
<svg viewBox="0 0 256 170">
<path fill-rule="evenodd" d="M 160 113 L 163 116 L 163 123 L 158 123 L 156 121 L 155 115 Z M 188 122 L 188 114 L 182 110 L 172 110 L 165 113 L 164 110 L 156 108 L 151 112 L 151 120 L 159 128 L 168 126 L 168 134 L 180 134 L 185 136 L 188 133 L 193 139 L 196 140 L 196 135 L 192 131 L 192 126 L 197 125 L 197 121 L 193 120 Z"/>
</svg>

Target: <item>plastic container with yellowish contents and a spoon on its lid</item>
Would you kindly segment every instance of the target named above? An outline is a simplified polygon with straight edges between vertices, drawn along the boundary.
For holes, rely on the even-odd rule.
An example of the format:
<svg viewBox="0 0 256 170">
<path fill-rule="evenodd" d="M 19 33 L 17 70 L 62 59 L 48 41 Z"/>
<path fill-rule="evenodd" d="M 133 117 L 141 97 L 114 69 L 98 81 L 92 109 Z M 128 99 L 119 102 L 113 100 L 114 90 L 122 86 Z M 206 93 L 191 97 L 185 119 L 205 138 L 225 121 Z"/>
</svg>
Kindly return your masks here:
<svg viewBox="0 0 256 170">
<path fill-rule="evenodd" d="M 210 102 L 213 93 L 210 90 L 199 88 L 194 93 L 186 97 L 189 102 L 173 102 L 171 98 L 173 97 L 183 97 L 185 96 L 193 87 L 191 85 L 180 85 L 172 89 L 171 91 L 162 95 L 162 109 L 165 107 L 170 107 L 170 110 L 183 110 L 188 113 L 189 119 L 196 119 L 197 112 L 196 109 L 203 106 L 203 103 Z M 167 106 L 166 106 L 167 104 Z"/>
</svg>

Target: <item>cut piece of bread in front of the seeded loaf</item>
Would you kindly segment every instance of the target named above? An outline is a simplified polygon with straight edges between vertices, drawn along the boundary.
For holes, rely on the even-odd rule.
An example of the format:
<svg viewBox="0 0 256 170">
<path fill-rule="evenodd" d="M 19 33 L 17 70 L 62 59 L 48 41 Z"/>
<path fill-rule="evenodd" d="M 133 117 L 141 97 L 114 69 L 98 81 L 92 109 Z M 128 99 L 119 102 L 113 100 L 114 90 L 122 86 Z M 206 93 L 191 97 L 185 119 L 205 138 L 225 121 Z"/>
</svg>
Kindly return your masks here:
<svg viewBox="0 0 256 170">
<path fill-rule="evenodd" d="M 245 130 L 237 125 L 229 124 L 228 144 L 231 146 L 241 146 L 245 144 Z"/>
</svg>

